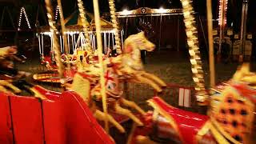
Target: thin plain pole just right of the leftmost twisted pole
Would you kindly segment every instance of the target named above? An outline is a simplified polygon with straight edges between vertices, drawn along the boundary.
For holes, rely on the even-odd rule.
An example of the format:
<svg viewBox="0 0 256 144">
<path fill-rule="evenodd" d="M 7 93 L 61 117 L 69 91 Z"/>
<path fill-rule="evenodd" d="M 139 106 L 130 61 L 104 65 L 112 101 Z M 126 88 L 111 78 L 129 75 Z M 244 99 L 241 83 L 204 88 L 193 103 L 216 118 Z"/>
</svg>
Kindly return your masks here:
<svg viewBox="0 0 256 144">
<path fill-rule="evenodd" d="M 62 1 L 57 0 L 57 2 L 58 2 L 58 10 L 59 10 L 59 15 L 60 15 L 60 22 L 61 22 L 61 26 L 62 26 L 62 37 L 63 37 L 63 42 L 64 42 L 64 53 L 68 54 L 69 50 L 68 50 L 68 45 L 67 45 L 67 37 L 66 37 L 66 34 L 65 34 L 66 26 L 65 26 L 63 10 L 62 10 Z"/>
</svg>

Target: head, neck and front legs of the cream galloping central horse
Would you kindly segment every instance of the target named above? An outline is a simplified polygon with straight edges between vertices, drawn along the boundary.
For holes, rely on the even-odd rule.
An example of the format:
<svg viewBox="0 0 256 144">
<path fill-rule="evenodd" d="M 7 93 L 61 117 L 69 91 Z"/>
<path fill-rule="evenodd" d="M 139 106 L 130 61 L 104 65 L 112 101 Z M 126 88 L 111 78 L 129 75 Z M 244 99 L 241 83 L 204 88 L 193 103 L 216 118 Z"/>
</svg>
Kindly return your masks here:
<svg viewBox="0 0 256 144">
<path fill-rule="evenodd" d="M 146 73 L 143 69 L 140 50 L 154 50 L 154 44 L 146 39 L 144 32 L 126 38 L 123 53 L 117 57 L 106 58 L 103 61 L 104 66 L 113 66 L 118 77 L 123 80 L 149 84 L 157 92 L 162 92 L 162 87 L 166 87 L 166 83 L 154 74 Z M 93 71 L 99 68 L 97 65 L 88 66 L 83 71 Z M 99 70 L 95 71 L 99 72 Z"/>
</svg>

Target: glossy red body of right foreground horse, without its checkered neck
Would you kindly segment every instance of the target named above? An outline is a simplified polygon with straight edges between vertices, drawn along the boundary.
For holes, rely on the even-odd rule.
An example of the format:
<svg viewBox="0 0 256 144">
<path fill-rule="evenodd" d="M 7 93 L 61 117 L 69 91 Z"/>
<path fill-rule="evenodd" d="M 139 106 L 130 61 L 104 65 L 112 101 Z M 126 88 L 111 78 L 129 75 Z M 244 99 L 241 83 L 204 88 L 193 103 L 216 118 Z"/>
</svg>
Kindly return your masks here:
<svg viewBox="0 0 256 144">
<path fill-rule="evenodd" d="M 138 136 L 149 135 L 154 138 L 154 141 L 159 142 L 197 143 L 196 135 L 208 121 L 208 116 L 180 110 L 166 104 L 158 97 L 150 99 L 149 102 L 164 118 L 158 117 L 157 120 L 153 121 L 153 113 L 146 114 L 144 118 L 141 118 L 144 120 L 145 126 L 134 126 L 130 135 L 130 143 L 137 143 Z"/>
</svg>

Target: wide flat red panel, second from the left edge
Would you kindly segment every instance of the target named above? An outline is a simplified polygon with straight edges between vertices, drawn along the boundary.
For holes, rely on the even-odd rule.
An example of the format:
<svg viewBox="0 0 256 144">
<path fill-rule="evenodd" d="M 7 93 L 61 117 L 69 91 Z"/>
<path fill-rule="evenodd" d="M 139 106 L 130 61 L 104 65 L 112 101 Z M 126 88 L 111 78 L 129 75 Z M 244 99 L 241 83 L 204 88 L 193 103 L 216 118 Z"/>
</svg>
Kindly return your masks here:
<svg viewBox="0 0 256 144">
<path fill-rule="evenodd" d="M 16 144 L 43 143 L 41 103 L 36 98 L 10 97 Z"/>
</svg>

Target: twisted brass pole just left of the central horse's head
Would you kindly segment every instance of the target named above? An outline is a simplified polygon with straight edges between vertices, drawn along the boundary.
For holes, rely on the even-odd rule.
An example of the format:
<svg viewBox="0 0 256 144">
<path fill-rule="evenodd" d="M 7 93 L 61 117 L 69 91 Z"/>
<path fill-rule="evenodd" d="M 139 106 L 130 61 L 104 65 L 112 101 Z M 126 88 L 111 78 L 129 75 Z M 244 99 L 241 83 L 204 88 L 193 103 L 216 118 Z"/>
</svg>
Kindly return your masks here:
<svg viewBox="0 0 256 144">
<path fill-rule="evenodd" d="M 114 0 L 109 0 L 109 5 L 110 5 L 110 17 L 114 27 L 114 40 L 117 46 L 117 53 L 122 54 L 121 40 L 120 40 L 120 35 L 118 33 L 118 21 L 117 21 L 117 16 L 115 15 L 116 10 L 114 7 Z"/>
</svg>

